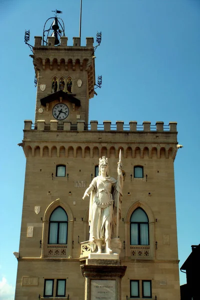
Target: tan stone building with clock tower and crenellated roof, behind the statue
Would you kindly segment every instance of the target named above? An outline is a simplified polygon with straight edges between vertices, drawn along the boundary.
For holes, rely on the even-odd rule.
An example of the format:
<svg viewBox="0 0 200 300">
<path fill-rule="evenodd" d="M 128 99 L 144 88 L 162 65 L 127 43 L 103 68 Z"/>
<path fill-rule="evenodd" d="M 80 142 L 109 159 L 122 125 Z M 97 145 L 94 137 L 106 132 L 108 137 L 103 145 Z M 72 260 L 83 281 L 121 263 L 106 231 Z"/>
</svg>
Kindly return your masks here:
<svg viewBox="0 0 200 300">
<path fill-rule="evenodd" d="M 93 38 L 86 46 L 35 36 L 35 120 L 24 121 L 24 197 L 15 300 L 83 300 L 80 265 L 90 253 L 85 187 L 108 157 L 116 177 L 123 163 L 120 261 L 127 269 L 121 299 L 180 298 L 173 161 L 176 122 L 88 124 L 94 95 Z M 91 299 L 93 300 L 93 299 Z"/>
</svg>

